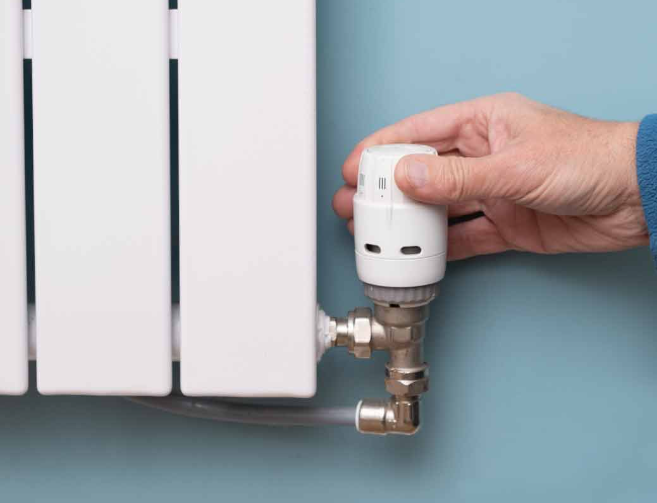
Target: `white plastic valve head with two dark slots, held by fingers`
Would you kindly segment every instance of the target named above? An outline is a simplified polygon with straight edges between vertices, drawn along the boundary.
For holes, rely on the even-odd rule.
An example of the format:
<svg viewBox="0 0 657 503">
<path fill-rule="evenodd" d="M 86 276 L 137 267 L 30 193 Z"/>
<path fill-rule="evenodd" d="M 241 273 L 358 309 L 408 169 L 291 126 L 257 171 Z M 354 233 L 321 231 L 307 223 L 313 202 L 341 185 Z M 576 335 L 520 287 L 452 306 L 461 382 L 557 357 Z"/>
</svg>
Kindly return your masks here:
<svg viewBox="0 0 657 503">
<path fill-rule="evenodd" d="M 391 288 L 435 285 L 445 275 L 447 208 L 406 196 L 395 183 L 395 167 L 406 155 L 438 155 L 424 145 L 381 145 L 360 158 L 354 195 L 358 277 Z"/>
</svg>

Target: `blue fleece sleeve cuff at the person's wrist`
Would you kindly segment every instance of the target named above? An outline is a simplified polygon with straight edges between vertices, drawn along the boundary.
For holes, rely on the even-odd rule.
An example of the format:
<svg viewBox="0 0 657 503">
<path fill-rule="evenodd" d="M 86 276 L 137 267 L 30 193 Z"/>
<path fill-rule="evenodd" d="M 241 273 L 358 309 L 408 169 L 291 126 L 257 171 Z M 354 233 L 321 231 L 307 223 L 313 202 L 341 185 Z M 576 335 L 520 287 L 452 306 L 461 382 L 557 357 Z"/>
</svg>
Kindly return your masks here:
<svg viewBox="0 0 657 503">
<path fill-rule="evenodd" d="M 641 121 L 636 140 L 636 170 L 650 233 L 650 251 L 657 265 L 657 114 Z"/>
</svg>

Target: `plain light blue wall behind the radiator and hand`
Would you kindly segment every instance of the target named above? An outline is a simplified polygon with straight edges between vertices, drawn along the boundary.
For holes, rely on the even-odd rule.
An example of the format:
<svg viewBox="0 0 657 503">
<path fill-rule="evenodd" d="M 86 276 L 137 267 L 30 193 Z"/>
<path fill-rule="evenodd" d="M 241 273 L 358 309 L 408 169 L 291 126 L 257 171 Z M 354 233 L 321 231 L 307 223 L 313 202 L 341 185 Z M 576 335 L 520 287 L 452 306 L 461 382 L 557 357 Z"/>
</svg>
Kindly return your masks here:
<svg viewBox="0 0 657 503">
<path fill-rule="evenodd" d="M 319 0 L 324 307 L 364 302 L 351 237 L 330 209 L 362 136 L 505 90 L 638 120 L 657 112 L 656 18 L 653 0 Z M 3 397 L 0 501 L 653 502 L 656 304 L 645 249 L 450 265 L 414 438 L 220 425 L 116 398 Z M 383 360 L 328 354 L 315 402 L 382 396 Z"/>
</svg>

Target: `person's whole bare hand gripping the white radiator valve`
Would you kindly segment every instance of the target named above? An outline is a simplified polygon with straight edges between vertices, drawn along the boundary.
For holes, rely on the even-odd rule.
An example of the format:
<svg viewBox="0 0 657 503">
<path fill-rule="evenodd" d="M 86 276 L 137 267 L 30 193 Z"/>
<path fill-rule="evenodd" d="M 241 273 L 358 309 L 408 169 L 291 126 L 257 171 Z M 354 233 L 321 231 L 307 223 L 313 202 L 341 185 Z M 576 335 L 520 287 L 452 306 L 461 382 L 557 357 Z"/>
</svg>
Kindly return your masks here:
<svg viewBox="0 0 657 503">
<path fill-rule="evenodd" d="M 636 175 L 638 123 L 587 119 L 517 94 L 448 105 L 388 126 L 347 158 L 335 212 L 353 232 L 363 149 L 421 143 L 439 156 L 399 161 L 410 197 L 449 205 L 450 217 L 484 216 L 449 228 L 448 259 L 506 250 L 605 252 L 648 244 Z"/>
</svg>

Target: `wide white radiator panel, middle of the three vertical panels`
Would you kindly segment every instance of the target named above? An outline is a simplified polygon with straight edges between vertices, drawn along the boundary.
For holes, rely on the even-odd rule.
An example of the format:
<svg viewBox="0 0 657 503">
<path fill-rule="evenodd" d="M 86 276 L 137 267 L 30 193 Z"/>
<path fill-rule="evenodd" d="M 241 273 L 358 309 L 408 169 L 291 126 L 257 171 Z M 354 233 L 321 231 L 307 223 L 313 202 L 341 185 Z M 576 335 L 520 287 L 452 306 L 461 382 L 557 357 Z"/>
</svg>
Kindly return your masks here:
<svg viewBox="0 0 657 503">
<path fill-rule="evenodd" d="M 167 394 L 167 2 L 32 8 L 39 391 Z"/>
</svg>

